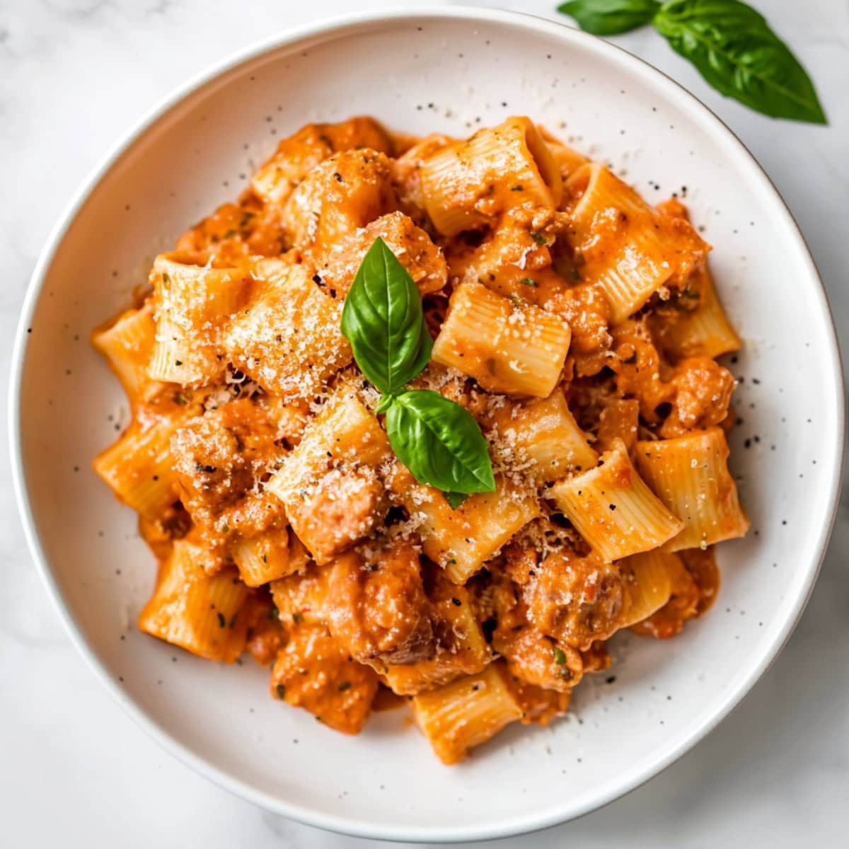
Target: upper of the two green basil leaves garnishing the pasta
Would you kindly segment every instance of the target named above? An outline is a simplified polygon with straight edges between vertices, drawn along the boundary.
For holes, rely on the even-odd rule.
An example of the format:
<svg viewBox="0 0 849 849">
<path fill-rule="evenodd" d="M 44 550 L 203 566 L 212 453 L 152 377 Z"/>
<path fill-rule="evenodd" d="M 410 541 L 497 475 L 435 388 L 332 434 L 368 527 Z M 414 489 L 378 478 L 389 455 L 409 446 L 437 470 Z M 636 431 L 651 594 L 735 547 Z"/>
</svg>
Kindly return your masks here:
<svg viewBox="0 0 849 849">
<path fill-rule="evenodd" d="M 380 237 L 363 257 L 345 299 L 342 335 L 360 370 L 384 394 L 401 391 L 430 360 L 433 340 L 419 290 Z"/>
</svg>

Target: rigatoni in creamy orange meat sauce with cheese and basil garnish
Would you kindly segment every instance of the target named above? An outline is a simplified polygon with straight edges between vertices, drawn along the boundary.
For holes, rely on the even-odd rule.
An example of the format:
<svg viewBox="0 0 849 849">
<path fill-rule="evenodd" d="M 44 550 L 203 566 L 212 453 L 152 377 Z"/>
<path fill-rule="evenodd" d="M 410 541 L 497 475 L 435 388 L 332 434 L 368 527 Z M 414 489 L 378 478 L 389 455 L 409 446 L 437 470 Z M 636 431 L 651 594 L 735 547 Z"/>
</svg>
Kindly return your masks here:
<svg viewBox="0 0 849 849">
<path fill-rule="evenodd" d="M 526 117 L 284 139 L 93 333 L 132 405 L 94 469 L 159 565 L 138 627 L 347 734 L 409 706 L 445 763 L 562 715 L 748 527 L 709 250 Z"/>
</svg>

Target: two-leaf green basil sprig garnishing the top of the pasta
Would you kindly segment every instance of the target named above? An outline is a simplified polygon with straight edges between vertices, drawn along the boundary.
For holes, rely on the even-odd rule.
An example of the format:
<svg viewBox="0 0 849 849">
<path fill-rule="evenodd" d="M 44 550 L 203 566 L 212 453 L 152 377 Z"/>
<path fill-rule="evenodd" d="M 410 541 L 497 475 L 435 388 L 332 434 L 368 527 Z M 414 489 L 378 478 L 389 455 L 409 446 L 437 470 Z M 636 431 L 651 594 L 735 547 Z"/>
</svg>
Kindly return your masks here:
<svg viewBox="0 0 849 849">
<path fill-rule="evenodd" d="M 468 410 L 438 392 L 404 389 L 430 360 L 432 341 L 413 278 L 383 239 L 368 249 L 342 310 L 342 334 L 357 366 L 382 397 L 386 435 L 419 483 L 446 493 L 452 508 L 495 477 L 481 428 Z"/>
</svg>

